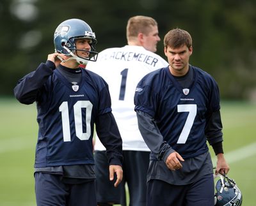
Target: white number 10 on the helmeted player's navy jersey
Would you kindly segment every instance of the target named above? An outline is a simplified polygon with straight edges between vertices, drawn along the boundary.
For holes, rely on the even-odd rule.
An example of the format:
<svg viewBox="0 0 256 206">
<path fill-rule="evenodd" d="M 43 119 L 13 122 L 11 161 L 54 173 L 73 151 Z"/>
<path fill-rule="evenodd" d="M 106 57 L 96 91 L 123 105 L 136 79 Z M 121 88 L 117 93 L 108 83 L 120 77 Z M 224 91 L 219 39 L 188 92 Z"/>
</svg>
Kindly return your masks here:
<svg viewBox="0 0 256 206">
<path fill-rule="evenodd" d="M 76 136 L 80 140 L 88 140 L 91 136 L 91 116 L 92 116 L 92 103 L 90 101 L 77 101 L 74 104 L 74 121 L 76 128 Z M 83 117 L 82 108 L 86 108 L 86 133 L 83 133 Z M 61 112 L 62 129 L 63 129 L 63 140 L 64 142 L 70 142 L 70 121 L 68 115 L 68 102 L 64 101 L 61 103 L 59 110 Z"/>
</svg>

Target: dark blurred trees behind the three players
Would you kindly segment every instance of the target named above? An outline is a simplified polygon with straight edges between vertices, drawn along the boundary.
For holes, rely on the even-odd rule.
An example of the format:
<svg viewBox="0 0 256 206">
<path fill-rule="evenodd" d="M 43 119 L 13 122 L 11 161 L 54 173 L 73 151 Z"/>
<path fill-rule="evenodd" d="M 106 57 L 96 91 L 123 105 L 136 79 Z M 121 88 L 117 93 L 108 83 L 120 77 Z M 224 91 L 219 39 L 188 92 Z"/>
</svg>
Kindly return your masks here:
<svg viewBox="0 0 256 206">
<path fill-rule="evenodd" d="M 256 101 L 255 0 L 1 0 L 0 95 L 13 96 L 17 80 L 54 52 L 53 34 L 64 20 L 86 21 L 100 52 L 127 43 L 125 27 L 133 15 L 157 20 L 162 57 L 164 34 L 175 27 L 189 31 L 190 63 L 216 79 L 222 98 Z"/>
</svg>

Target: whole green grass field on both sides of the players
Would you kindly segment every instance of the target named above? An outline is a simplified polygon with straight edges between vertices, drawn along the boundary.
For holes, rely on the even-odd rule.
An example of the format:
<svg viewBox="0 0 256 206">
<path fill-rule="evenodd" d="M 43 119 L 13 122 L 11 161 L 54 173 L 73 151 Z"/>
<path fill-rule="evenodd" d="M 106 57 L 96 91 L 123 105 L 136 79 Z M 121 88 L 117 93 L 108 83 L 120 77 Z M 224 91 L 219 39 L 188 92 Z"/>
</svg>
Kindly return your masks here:
<svg viewBox="0 0 256 206">
<path fill-rule="evenodd" d="M 35 206 L 36 107 L 0 98 L 0 114 L 0 206 Z M 225 101 L 221 116 L 228 176 L 241 189 L 243 206 L 255 206 L 256 104 Z"/>
</svg>

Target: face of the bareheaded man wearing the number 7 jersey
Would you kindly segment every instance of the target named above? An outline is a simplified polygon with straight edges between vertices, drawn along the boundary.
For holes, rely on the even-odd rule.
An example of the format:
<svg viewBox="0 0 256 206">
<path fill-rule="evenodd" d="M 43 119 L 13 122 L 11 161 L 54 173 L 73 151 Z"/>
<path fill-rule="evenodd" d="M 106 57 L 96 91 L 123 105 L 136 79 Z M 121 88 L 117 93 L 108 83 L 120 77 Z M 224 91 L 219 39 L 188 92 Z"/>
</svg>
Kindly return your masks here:
<svg viewBox="0 0 256 206">
<path fill-rule="evenodd" d="M 188 70 L 189 57 L 192 54 L 192 47 L 183 45 L 179 48 L 165 47 L 164 54 L 170 64 L 173 75 L 184 75 Z"/>
</svg>

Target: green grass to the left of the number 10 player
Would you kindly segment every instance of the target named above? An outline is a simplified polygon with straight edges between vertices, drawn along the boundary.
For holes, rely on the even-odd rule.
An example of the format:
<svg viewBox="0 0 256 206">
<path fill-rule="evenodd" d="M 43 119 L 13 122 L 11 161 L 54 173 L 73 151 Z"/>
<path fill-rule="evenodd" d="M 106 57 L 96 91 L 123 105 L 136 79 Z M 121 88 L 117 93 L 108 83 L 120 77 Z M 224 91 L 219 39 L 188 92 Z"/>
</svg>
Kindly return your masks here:
<svg viewBox="0 0 256 206">
<path fill-rule="evenodd" d="M 35 204 L 33 163 L 35 157 L 35 105 L 0 99 L 0 205 Z"/>
</svg>

